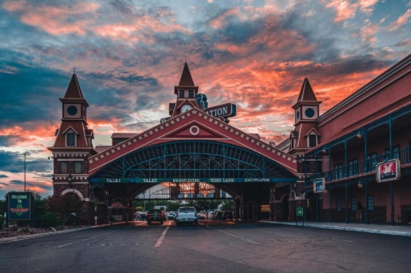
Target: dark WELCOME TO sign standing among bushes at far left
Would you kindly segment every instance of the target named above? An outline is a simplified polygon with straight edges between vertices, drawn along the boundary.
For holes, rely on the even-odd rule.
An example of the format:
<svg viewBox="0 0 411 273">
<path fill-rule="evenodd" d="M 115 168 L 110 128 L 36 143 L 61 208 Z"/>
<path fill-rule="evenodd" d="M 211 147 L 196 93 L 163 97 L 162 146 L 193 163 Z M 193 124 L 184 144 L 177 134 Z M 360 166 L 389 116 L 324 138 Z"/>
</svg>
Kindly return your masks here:
<svg viewBox="0 0 411 273">
<path fill-rule="evenodd" d="M 31 220 L 32 193 L 9 192 L 8 210 L 8 220 Z"/>
</svg>

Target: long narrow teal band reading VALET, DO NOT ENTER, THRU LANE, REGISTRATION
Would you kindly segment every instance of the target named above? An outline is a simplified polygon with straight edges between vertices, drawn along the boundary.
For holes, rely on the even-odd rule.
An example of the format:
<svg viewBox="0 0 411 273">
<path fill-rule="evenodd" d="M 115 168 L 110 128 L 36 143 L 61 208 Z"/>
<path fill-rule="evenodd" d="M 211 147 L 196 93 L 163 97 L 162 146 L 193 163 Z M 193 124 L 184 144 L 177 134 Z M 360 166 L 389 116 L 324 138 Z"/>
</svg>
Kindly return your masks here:
<svg viewBox="0 0 411 273">
<path fill-rule="evenodd" d="M 188 183 L 188 182 L 204 182 L 204 183 L 280 183 L 280 182 L 296 182 L 295 178 L 92 178 L 90 183 Z"/>
</svg>

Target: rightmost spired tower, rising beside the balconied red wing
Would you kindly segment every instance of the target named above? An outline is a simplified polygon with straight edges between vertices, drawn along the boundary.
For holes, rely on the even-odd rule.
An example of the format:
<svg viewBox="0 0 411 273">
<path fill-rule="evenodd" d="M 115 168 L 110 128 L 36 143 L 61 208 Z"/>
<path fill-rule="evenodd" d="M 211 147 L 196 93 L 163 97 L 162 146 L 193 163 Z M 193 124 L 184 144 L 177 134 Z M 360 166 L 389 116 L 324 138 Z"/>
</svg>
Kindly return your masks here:
<svg viewBox="0 0 411 273">
<path fill-rule="evenodd" d="M 295 113 L 295 129 L 290 133 L 290 155 L 303 155 L 305 151 L 319 144 L 318 129 L 320 104 L 306 77 L 299 92 L 297 103 L 292 106 Z"/>
</svg>

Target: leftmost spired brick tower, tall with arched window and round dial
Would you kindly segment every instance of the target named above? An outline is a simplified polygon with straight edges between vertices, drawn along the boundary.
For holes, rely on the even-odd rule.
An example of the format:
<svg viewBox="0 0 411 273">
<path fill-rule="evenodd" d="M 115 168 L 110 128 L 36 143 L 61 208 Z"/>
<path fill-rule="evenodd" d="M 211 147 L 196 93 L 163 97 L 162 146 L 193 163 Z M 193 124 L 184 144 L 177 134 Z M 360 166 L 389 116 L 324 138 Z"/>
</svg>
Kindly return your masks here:
<svg viewBox="0 0 411 273">
<path fill-rule="evenodd" d="M 60 128 L 55 142 L 48 147 L 53 153 L 54 194 L 77 194 L 88 200 L 88 157 L 95 155 L 93 131 L 87 128 L 87 107 L 77 75 L 73 73 L 62 99 Z"/>
</svg>

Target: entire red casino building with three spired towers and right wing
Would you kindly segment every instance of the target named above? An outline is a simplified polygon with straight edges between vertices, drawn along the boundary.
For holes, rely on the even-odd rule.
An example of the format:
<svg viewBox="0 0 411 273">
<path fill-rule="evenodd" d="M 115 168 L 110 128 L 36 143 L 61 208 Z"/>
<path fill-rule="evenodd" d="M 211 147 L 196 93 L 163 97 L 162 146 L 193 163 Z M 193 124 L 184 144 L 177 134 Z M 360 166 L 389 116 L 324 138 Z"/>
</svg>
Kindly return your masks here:
<svg viewBox="0 0 411 273">
<path fill-rule="evenodd" d="M 134 198 L 158 185 L 173 200 L 227 192 L 242 220 L 293 221 L 303 208 L 312 221 L 411 222 L 410 71 L 408 55 L 324 114 L 304 79 L 292 106 L 295 128 L 275 145 L 229 125 L 236 105 L 208 107 L 184 64 L 169 117 L 96 147 L 73 74 L 49 147 L 54 193 L 77 194 L 81 218 L 99 224 L 114 214 L 131 220 Z"/>
</svg>

